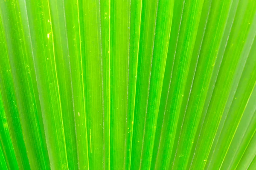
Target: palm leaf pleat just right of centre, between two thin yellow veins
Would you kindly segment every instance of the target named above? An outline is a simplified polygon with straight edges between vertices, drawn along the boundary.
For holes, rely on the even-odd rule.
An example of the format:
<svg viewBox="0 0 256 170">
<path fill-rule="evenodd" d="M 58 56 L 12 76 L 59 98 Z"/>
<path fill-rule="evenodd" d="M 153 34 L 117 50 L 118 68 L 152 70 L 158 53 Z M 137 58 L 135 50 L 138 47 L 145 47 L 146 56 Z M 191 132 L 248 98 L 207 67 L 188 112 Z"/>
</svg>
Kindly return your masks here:
<svg viewBox="0 0 256 170">
<path fill-rule="evenodd" d="M 173 1 L 142 2 L 131 167 L 151 167 L 172 15 Z"/>
</svg>

